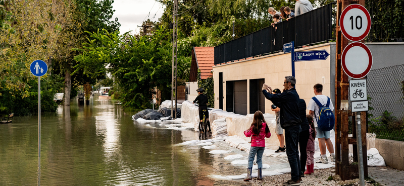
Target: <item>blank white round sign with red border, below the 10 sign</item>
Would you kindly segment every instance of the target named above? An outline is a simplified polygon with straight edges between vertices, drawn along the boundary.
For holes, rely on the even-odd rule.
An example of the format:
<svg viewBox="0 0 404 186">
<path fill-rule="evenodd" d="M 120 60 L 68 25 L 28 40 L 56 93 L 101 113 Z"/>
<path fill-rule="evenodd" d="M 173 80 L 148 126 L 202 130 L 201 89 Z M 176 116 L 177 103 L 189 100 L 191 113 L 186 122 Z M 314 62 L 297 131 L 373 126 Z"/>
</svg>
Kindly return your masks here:
<svg viewBox="0 0 404 186">
<path fill-rule="evenodd" d="M 369 48 L 360 42 L 350 43 L 341 54 L 341 66 L 346 75 L 360 79 L 372 69 L 373 56 Z"/>
</svg>

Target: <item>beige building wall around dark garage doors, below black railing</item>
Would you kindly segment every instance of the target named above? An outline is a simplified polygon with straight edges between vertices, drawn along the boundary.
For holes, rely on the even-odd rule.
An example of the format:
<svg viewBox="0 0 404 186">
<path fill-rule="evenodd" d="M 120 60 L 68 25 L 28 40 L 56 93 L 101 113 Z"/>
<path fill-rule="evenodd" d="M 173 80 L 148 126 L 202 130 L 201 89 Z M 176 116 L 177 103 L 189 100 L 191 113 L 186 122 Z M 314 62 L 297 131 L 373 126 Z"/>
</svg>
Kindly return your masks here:
<svg viewBox="0 0 404 186">
<path fill-rule="evenodd" d="M 313 86 L 323 84 L 323 95 L 331 98 L 335 106 L 335 43 L 296 49 L 298 51 L 327 50 L 330 53 L 325 60 L 295 62 L 296 91 L 301 99 L 309 104 L 315 96 Z M 219 72 L 223 72 L 223 110 L 226 110 L 226 81 L 247 80 L 247 113 L 249 113 L 249 79 L 265 78 L 265 83 L 274 88 L 283 89 L 285 76 L 292 75 L 291 54 L 283 52 L 221 64 L 213 67 L 215 109 L 219 109 Z M 265 100 L 265 112 L 274 114 Z M 308 112 L 307 112 L 308 113 Z"/>
</svg>

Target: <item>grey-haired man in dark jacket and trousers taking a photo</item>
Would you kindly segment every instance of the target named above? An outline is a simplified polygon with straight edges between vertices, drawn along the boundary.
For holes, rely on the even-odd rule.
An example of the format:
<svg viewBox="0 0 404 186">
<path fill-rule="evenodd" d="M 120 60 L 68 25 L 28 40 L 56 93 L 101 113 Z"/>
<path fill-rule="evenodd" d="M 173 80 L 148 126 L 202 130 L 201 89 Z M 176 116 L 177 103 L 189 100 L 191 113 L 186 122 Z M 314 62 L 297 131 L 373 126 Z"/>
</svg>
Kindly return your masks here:
<svg viewBox="0 0 404 186">
<path fill-rule="evenodd" d="M 291 168 L 291 179 L 283 185 L 300 185 L 300 159 L 298 151 L 301 120 L 299 116 L 299 95 L 294 88 L 296 79 L 286 76 L 283 82 L 285 90 L 281 94 L 271 94 L 272 88 L 264 83 L 262 92 L 268 100 L 279 107 L 281 127 L 285 129 L 286 155 Z M 268 90 L 268 91 L 267 91 Z"/>
</svg>

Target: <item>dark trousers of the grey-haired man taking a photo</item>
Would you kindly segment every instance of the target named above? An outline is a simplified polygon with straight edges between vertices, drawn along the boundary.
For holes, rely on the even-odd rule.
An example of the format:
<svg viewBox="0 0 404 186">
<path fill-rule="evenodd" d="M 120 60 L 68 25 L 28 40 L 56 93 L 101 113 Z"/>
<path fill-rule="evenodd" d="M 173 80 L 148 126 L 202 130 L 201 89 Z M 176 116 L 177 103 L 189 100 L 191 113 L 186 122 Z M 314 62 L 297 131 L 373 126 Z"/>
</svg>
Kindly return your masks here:
<svg viewBox="0 0 404 186">
<path fill-rule="evenodd" d="M 301 132 L 300 125 L 292 125 L 285 128 L 285 144 L 286 155 L 290 165 L 290 174 L 293 181 L 297 181 L 300 178 L 301 167 L 299 157 L 299 134 Z"/>
</svg>

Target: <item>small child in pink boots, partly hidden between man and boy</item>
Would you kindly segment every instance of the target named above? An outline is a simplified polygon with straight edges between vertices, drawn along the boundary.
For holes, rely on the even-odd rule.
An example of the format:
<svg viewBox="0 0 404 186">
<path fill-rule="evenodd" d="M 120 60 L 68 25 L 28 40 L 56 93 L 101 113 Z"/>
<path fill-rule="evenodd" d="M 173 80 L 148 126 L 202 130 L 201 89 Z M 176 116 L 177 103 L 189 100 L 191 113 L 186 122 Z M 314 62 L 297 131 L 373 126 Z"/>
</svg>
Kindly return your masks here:
<svg viewBox="0 0 404 186">
<path fill-rule="evenodd" d="M 307 115 L 306 118 L 307 118 L 307 121 L 309 122 L 309 126 L 310 126 L 310 130 L 309 130 L 310 136 L 309 136 L 309 141 L 307 142 L 307 148 L 306 148 L 306 152 L 307 152 L 306 168 L 307 168 L 307 170 L 305 171 L 305 174 L 312 174 L 312 173 L 314 173 L 314 139 L 316 138 L 316 130 L 314 129 L 313 116 Z"/>
</svg>

